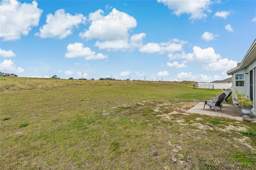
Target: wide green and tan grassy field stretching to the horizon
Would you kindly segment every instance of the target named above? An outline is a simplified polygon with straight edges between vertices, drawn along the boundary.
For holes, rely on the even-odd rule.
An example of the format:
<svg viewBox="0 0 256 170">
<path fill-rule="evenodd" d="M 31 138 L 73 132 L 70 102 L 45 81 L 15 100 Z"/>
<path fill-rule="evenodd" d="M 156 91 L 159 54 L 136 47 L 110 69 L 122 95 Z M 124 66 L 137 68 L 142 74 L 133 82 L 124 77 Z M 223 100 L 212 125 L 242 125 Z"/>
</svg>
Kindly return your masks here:
<svg viewBox="0 0 256 170">
<path fill-rule="evenodd" d="M 0 169 L 256 170 L 256 124 L 186 115 L 223 92 L 191 83 L 1 77 Z"/>
</svg>

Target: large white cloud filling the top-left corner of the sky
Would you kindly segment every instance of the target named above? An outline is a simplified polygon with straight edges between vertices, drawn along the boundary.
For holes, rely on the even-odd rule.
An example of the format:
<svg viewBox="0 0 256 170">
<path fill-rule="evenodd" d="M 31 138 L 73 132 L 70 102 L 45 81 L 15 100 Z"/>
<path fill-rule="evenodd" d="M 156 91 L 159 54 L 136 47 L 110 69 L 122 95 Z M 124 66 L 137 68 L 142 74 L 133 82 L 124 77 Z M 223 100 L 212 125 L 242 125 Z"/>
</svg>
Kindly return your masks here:
<svg viewBox="0 0 256 170">
<path fill-rule="evenodd" d="M 3 41 L 18 40 L 22 35 L 28 35 L 32 27 L 38 26 L 42 10 L 37 5 L 36 1 L 31 4 L 16 0 L 1 1 L 0 37 Z"/>
</svg>

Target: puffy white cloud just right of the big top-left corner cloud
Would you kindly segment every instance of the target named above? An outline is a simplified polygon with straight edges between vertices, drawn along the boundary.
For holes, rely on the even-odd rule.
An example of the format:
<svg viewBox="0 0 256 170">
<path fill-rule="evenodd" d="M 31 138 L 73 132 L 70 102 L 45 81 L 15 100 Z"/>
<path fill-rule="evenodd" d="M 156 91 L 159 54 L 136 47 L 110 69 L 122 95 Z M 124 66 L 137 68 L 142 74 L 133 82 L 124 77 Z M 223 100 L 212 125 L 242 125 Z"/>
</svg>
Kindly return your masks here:
<svg viewBox="0 0 256 170">
<path fill-rule="evenodd" d="M 57 10 L 54 15 L 46 16 L 46 24 L 40 28 L 40 32 L 36 36 L 41 38 L 66 38 L 72 34 L 74 27 L 78 28 L 78 24 L 85 23 L 86 17 L 82 14 L 71 15 L 65 13 L 64 9 Z"/>
</svg>

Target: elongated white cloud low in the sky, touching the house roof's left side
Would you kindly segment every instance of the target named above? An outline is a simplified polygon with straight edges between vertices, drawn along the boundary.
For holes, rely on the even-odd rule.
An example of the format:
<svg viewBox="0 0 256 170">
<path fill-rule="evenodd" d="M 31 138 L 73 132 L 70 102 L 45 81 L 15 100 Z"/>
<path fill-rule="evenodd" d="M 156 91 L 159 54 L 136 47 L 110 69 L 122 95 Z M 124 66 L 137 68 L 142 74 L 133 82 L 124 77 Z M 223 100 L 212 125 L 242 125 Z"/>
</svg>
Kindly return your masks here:
<svg viewBox="0 0 256 170">
<path fill-rule="evenodd" d="M 237 66 L 237 61 L 232 59 L 228 60 L 227 58 L 219 59 L 216 63 L 209 63 L 205 65 L 202 69 L 212 70 L 212 71 L 228 71 Z"/>
</svg>

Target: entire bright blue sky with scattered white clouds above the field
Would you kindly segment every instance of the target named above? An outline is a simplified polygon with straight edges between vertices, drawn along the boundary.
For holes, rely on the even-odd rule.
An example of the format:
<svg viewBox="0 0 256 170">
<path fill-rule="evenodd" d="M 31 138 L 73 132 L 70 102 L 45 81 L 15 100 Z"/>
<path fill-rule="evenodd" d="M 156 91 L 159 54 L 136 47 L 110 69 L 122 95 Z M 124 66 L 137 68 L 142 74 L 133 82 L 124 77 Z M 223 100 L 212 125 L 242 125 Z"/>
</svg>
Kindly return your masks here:
<svg viewBox="0 0 256 170">
<path fill-rule="evenodd" d="M 19 77 L 226 79 L 256 38 L 256 1 L 1 1 L 0 71 Z"/>
</svg>

